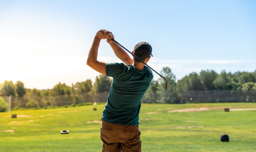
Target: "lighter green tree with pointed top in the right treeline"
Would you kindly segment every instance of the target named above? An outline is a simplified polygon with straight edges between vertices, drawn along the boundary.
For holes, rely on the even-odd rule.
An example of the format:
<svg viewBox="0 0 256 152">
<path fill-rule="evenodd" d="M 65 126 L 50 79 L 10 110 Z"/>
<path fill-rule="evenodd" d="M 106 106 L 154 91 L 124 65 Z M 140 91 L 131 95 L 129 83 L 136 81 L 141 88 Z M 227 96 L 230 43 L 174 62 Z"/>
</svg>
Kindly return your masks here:
<svg viewBox="0 0 256 152">
<path fill-rule="evenodd" d="M 227 84 L 231 82 L 225 70 L 213 81 L 213 85 L 218 90 L 226 90 Z"/>
</svg>

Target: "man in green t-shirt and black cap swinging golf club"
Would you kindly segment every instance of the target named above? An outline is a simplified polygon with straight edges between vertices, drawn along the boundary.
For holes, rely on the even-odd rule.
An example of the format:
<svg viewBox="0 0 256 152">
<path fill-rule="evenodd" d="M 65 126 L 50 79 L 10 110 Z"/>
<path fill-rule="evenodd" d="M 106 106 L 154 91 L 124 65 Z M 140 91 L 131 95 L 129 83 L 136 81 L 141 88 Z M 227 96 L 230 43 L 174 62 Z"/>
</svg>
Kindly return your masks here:
<svg viewBox="0 0 256 152">
<path fill-rule="evenodd" d="M 115 55 L 124 63 L 105 63 L 97 60 L 101 39 L 107 39 Z M 141 99 L 153 79 L 152 71 L 137 58 L 131 59 L 119 45 L 111 41 L 114 35 L 99 30 L 89 50 L 87 65 L 113 77 L 107 103 L 103 110 L 100 138 L 102 152 L 141 152 L 139 112 Z M 152 56 L 146 42 L 136 44 L 132 53 L 145 63 Z"/>
</svg>

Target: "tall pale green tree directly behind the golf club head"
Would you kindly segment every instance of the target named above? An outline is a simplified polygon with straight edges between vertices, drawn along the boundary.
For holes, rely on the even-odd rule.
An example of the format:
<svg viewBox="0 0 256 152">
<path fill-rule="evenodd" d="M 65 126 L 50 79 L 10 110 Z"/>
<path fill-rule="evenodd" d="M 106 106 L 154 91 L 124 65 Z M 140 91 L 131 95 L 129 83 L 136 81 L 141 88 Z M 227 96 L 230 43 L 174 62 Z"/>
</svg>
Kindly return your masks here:
<svg viewBox="0 0 256 152">
<path fill-rule="evenodd" d="M 170 67 L 163 67 L 161 75 L 165 77 L 169 82 L 169 89 L 165 90 L 166 81 L 159 78 L 159 85 L 157 86 L 157 93 L 159 94 L 158 102 L 160 103 L 176 103 L 176 77 L 172 73 Z"/>
</svg>

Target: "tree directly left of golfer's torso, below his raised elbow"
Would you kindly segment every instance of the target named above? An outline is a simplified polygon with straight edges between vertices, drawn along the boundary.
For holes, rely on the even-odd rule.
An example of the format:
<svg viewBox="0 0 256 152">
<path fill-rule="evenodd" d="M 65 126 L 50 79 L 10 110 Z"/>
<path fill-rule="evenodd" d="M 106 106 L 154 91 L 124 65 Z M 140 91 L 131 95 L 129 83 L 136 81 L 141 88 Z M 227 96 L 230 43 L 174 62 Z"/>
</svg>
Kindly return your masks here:
<svg viewBox="0 0 256 152">
<path fill-rule="evenodd" d="M 95 83 L 97 92 L 109 92 L 112 80 L 104 74 L 96 76 Z"/>
</svg>

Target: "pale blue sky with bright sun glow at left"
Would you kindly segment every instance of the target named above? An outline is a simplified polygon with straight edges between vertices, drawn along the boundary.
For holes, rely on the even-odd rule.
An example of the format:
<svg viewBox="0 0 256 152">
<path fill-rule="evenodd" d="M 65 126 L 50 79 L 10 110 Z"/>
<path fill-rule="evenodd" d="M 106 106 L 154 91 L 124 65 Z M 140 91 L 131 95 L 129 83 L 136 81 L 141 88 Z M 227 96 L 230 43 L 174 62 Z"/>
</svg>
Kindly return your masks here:
<svg viewBox="0 0 256 152">
<path fill-rule="evenodd" d="M 254 0 L 0 0 L 0 83 L 51 89 L 58 82 L 94 81 L 99 73 L 86 60 L 99 29 L 130 51 L 150 43 L 148 65 L 157 72 L 170 67 L 176 80 L 207 69 L 256 70 Z M 122 62 L 106 40 L 98 60 Z"/>
</svg>

